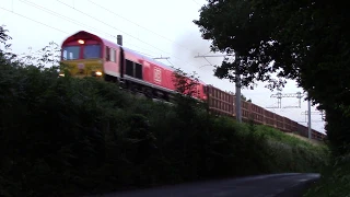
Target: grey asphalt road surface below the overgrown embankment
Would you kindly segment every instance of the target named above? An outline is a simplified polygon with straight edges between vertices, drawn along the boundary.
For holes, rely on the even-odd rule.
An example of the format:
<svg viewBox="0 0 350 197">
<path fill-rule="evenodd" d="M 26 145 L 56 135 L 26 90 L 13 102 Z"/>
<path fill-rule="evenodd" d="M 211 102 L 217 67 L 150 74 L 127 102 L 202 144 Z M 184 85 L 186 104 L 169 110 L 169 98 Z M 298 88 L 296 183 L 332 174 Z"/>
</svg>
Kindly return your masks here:
<svg viewBox="0 0 350 197">
<path fill-rule="evenodd" d="M 271 174 L 187 183 L 94 197 L 302 197 L 319 174 Z"/>
</svg>

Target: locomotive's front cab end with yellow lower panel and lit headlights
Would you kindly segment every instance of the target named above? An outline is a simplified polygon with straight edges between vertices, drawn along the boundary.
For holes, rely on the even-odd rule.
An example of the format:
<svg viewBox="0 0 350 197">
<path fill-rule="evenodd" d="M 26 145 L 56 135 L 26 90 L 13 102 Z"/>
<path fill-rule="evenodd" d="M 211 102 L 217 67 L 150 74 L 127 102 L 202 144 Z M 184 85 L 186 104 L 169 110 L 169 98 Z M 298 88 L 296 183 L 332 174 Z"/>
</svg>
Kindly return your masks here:
<svg viewBox="0 0 350 197">
<path fill-rule="evenodd" d="M 78 32 L 62 43 L 61 63 L 72 77 L 101 78 L 103 70 L 103 40 L 88 32 Z M 60 72 L 65 76 L 65 71 Z"/>
</svg>

